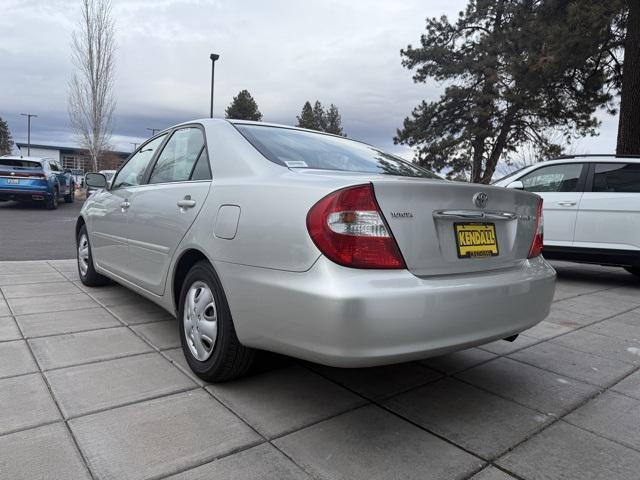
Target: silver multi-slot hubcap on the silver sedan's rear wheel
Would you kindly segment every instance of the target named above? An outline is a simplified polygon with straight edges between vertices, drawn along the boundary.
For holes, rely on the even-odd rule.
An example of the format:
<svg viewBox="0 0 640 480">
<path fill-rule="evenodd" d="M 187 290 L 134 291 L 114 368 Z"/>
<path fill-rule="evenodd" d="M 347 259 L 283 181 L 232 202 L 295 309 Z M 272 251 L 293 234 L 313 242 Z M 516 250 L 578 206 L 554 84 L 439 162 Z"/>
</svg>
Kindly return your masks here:
<svg viewBox="0 0 640 480">
<path fill-rule="evenodd" d="M 218 309 L 206 283 L 198 281 L 189 288 L 182 323 L 191 355 L 204 362 L 213 353 L 218 337 Z"/>
</svg>

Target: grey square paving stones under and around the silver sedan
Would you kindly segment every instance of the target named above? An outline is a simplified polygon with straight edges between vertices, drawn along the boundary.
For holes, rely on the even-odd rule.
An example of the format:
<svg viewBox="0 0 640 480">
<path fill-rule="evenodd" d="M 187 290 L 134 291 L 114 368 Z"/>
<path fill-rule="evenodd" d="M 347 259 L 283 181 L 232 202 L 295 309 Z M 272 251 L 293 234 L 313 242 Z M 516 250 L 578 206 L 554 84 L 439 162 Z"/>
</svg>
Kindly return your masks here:
<svg viewBox="0 0 640 480">
<path fill-rule="evenodd" d="M 372 369 L 265 354 L 209 385 L 142 297 L 0 262 L 0 479 L 637 479 L 640 280 L 554 266 L 551 314 L 513 343 Z"/>
</svg>

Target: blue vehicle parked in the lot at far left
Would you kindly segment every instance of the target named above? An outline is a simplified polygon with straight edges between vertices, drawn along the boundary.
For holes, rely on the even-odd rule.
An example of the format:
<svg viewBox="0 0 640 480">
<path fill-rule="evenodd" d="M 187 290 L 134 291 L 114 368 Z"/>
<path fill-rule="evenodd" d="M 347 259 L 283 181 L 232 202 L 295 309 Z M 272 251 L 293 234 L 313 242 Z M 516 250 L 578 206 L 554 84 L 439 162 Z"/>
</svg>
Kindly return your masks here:
<svg viewBox="0 0 640 480">
<path fill-rule="evenodd" d="M 63 170 L 52 158 L 0 157 L 0 201 L 43 202 L 49 210 L 60 199 L 73 203 L 75 183 L 71 170 Z"/>
</svg>

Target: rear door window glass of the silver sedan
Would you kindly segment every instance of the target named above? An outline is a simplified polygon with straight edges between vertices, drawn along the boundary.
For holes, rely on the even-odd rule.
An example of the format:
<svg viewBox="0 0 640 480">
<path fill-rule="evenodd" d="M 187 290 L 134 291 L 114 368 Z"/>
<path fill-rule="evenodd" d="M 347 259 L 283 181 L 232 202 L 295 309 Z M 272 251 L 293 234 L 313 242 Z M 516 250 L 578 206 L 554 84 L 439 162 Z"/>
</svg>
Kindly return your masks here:
<svg viewBox="0 0 640 480">
<path fill-rule="evenodd" d="M 189 180 L 203 147 L 204 137 L 199 128 L 176 130 L 160 153 L 151 172 L 149 183 Z"/>
</svg>

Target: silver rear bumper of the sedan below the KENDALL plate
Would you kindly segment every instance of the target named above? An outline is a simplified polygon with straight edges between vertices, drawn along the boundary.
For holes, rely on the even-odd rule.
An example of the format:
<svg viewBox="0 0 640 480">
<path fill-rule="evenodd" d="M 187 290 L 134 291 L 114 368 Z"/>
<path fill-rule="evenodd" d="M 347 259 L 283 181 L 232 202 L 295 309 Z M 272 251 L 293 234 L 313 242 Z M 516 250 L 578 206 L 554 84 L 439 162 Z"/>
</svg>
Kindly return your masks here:
<svg viewBox="0 0 640 480">
<path fill-rule="evenodd" d="M 549 313 L 555 271 L 518 268 L 419 278 L 324 257 L 292 273 L 217 263 L 236 332 L 251 347 L 339 367 L 397 363 L 526 330 Z"/>
</svg>

